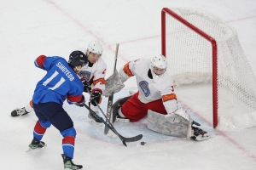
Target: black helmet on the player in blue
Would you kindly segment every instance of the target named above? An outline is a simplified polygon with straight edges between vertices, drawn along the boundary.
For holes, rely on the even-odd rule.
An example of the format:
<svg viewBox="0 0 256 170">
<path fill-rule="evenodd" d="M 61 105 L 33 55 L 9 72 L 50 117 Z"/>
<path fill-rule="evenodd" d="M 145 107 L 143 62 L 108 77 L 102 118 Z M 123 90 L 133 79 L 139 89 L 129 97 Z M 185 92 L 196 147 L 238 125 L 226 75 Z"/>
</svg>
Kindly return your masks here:
<svg viewBox="0 0 256 170">
<path fill-rule="evenodd" d="M 73 51 L 69 55 L 68 63 L 73 67 L 78 65 L 86 65 L 88 63 L 87 56 L 82 51 Z"/>
</svg>

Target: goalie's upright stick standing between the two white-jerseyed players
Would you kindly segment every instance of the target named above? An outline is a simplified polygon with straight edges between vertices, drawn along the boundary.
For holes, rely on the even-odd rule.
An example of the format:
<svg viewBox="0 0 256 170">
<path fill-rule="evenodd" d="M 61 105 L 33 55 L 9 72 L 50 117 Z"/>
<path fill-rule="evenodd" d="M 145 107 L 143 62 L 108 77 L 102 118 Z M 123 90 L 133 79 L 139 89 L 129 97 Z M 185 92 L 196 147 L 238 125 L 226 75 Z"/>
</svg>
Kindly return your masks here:
<svg viewBox="0 0 256 170">
<path fill-rule="evenodd" d="M 115 56 L 114 56 L 114 65 L 113 65 L 113 73 L 116 70 L 116 62 L 117 62 L 118 52 L 119 52 L 119 43 L 116 44 Z M 109 122 L 109 120 L 111 120 L 110 116 L 111 116 L 111 112 L 113 111 L 112 105 L 113 105 L 113 93 L 108 97 L 108 109 L 107 109 L 107 116 L 106 116 L 106 120 L 108 119 L 108 122 Z M 108 131 L 109 131 L 108 126 L 105 126 L 104 133 L 106 135 L 108 135 Z"/>
</svg>

